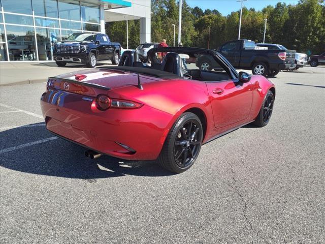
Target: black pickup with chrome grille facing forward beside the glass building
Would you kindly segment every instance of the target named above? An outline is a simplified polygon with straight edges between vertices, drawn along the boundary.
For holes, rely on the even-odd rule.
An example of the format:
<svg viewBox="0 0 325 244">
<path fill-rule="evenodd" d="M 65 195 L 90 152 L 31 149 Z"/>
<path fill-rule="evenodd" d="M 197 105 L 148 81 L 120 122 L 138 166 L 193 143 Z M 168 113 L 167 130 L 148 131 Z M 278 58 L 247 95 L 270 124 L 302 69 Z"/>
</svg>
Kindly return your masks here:
<svg viewBox="0 0 325 244">
<path fill-rule="evenodd" d="M 54 60 L 58 66 L 67 63 L 86 64 L 95 67 L 97 60 L 112 60 L 118 64 L 121 45 L 111 42 L 105 34 L 74 33 L 66 41 L 54 43 Z"/>
</svg>

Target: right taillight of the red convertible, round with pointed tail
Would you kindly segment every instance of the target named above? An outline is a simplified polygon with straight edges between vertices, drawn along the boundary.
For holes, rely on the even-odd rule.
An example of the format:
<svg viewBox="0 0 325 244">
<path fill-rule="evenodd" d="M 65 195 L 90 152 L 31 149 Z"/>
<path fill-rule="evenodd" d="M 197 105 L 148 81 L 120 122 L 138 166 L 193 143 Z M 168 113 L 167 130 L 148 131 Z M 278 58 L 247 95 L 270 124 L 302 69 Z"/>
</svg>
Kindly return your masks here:
<svg viewBox="0 0 325 244">
<path fill-rule="evenodd" d="M 141 108 L 143 104 L 133 101 L 111 99 L 105 95 L 99 95 L 95 100 L 96 108 L 104 111 L 109 108 Z"/>
</svg>

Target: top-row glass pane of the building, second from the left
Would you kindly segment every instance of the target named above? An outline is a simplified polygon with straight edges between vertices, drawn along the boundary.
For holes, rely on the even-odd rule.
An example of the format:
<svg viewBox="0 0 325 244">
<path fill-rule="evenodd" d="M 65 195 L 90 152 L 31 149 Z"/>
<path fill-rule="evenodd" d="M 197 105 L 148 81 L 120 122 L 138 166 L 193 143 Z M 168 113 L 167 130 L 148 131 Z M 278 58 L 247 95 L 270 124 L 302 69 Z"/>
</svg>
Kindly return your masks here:
<svg viewBox="0 0 325 244">
<path fill-rule="evenodd" d="M 56 0 L 32 0 L 32 9 L 35 15 L 58 18 Z"/>
</svg>

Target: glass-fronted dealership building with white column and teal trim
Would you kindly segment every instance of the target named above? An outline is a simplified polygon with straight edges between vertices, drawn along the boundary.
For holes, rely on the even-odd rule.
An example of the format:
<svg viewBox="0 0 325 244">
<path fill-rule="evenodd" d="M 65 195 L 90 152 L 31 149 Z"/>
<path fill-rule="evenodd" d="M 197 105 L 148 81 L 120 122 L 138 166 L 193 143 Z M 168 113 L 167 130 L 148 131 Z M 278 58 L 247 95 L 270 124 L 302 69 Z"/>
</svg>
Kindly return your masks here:
<svg viewBox="0 0 325 244">
<path fill-rule="evenodd" d="M 140 19 L 150 42 L 150 0 L 0 0 L 0 61 L 53 60 L 53 42 L 72 33 L 105 33 L 105 22 Z M 119 42 L 119 40 L 112 40 Z"/>
</svg>

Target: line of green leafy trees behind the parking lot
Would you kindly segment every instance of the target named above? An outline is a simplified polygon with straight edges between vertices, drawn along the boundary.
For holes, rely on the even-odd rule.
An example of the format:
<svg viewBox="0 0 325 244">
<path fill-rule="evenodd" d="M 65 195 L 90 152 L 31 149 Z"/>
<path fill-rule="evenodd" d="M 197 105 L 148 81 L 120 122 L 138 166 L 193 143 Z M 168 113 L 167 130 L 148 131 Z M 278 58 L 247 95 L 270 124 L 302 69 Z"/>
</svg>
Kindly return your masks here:
<svg viewBox="0 0 325 244">
<path fill-rule="evenodd" d="M 217 4 L 217 2 L 215 2 Z M 237 4 L 237 3 L 236 3 Z M 151 0 L 151 41 L 166 39 L 169 46 L 178 40 L 178 1 Z M 215 49 L 238 38 L 240 9 L 223 16 L 216 9 L 191 8 L 183 0 L 182 36 L 184 46 Z M 282 44 L 308 55 L 325 51 L 324 0 L 300 0 L 297 5 L 277 3 L 261 11 L 243 8 L 241 39 L 263 42 L 264 19 L 267 18 L 266 43 Z M 106 33 L 126 48 L 126 21 L 106 23 Z M 129 48 L 140 44 L 139 20 L 128 21 Z"/>
</svg>

